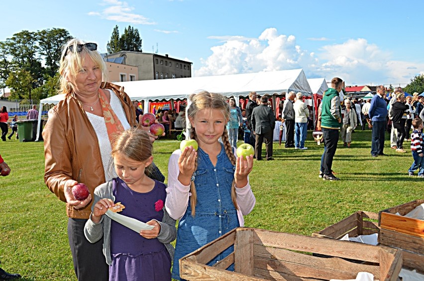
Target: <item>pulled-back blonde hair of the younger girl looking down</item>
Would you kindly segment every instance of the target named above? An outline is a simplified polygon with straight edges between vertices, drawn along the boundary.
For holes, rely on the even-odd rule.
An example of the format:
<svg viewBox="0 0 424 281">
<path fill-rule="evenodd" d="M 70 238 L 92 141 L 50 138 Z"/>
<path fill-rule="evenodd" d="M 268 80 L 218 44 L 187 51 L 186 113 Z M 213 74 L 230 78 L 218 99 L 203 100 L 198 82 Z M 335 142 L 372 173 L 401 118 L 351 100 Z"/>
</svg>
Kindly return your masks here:
<svg viewBox="0 0 424 281">
<path fill-rule="evenodd" d="M 153 143 L 147 132 L 141 129 L 131 128 L 115 136 L 112 145 L 112 158 L 120 154 L 134 161 L 145 162 L 152 156 Z M 146 167 L 145 173 L 149 171 Z"/>
</svg>

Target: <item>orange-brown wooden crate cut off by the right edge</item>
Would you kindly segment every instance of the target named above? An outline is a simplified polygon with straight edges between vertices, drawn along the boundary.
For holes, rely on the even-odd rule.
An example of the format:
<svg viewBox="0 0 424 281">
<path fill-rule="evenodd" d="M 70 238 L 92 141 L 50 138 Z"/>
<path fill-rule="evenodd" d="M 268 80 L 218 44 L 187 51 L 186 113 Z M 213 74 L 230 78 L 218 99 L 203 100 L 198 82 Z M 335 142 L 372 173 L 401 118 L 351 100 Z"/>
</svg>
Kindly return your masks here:
<svg viewBox="0 0 424 281">
<path fill-rule="evenodd" d="M 403 249 L 405 268 L 424 273 L 424 221 L 403 217 L 424 203 L 415 200 L 379 212 L 381 245 Z M 396 215 L 399 213 L 401 216 Z"/>
</svg>

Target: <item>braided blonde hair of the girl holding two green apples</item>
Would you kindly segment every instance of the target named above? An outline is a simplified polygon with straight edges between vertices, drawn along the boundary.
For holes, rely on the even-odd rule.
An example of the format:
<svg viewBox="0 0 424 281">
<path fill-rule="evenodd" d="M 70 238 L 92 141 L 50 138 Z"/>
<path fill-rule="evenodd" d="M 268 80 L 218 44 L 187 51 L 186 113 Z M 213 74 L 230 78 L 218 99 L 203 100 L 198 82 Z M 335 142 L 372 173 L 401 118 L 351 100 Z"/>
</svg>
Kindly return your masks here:
<svg viewBox="0 0 424 281">
<path fill-rule="evenodd" d="M 212 110 L 212 109 L 217 109 L 222 111 L 222 114 L 225 120 L 228 120 L 230 117 L 229 105 L 226 102 L 226 99 L 221 94 L 202 91 L 196 94 L 192 94 L 190 96 L 190 100 L 192 101 L 192 104 L 187 109 L 187 116 L 190 120 L 193 120 L 196 117 L 196 114 L 200 110 Z M 190 129 L 190 138 L 193 140 L 197 140 L 195 129 L 196 128 Z M 231 143 L 228 140 L 228 133 L 225 127 L 224 127 L 224 132 L 222 133 L 222 136 L 221 136 L 221 140 L 224 144 L 225 153 L 227 154 L 229 160 L 231 161 L 231 164 L 235 166 L 236 158 L 235 158 L 233 149 L 231 147 Z M 198 159 L 199 158 L 196 158 L 195 170 L 197 170 L 197 167 L 198 167 L 198 161 L 199 161 Z M 194 180 L 192 180 L 190 184 L 190 192 L 192 193 L 190 197 L 190 204 L 192 208 L 192 216 L 194 217 L 196 214 L 196 203 L 197 203 L 197 193 L 196 193 L 196 186 L 195 186 Z M 236 194 L 235 194 L 235 180 L 233 180 L 231 184 L 231 200 L 232 200 L 232 203 L 234 204 L 234 207 L 238 209 Z"/>
</svg>

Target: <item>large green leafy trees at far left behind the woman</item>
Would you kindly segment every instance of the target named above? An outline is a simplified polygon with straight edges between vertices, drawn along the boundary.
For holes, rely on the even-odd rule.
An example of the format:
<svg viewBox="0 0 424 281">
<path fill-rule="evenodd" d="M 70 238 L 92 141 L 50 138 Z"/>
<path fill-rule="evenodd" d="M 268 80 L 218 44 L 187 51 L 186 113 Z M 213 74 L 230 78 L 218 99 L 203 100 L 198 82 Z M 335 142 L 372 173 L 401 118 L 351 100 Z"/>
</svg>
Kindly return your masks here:
<svg viewBox="0 0 424 281">
<path fill-rule="evenodd" d="M 67 30 L 52 28 L 22 30 L 0 42 L 0 88 L 11 89 L 9 99 L 41 99 L 55 91 L 49 78 L 57 73 L 61 48 L 71 38 Z M 38 87 L 43 88 L 34 93 Z"/>
</svg>

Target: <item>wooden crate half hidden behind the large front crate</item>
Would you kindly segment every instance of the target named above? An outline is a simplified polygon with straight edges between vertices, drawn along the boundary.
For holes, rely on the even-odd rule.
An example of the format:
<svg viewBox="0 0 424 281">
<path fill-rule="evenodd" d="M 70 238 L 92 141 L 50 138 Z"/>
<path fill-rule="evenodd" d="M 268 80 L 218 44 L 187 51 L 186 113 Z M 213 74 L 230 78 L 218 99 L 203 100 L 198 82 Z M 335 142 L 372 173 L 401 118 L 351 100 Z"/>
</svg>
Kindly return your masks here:
<svg viewBox="0 0 424 281">
<path fill-rule="evenodd" d="M 317 232 L 312 236 L 340 239 L 346 234 L 349 237 L 379 233 L 378 214 L 366 211 L 357 211 L 347 218 Z"/>
</svg>

